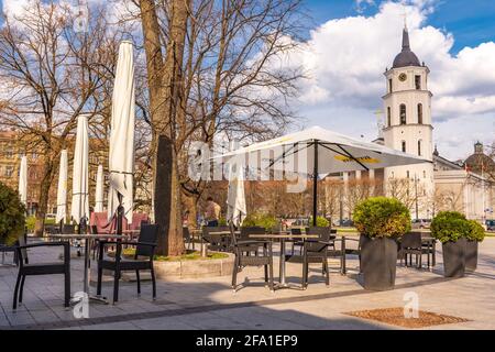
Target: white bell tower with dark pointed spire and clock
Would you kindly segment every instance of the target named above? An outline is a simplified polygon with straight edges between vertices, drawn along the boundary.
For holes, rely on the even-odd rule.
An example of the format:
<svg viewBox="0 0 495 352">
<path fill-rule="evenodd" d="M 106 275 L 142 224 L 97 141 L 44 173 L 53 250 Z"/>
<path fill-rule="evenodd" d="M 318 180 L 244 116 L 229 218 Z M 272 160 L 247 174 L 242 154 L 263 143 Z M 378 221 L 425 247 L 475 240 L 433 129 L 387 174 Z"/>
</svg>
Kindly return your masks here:
<svg viewBox="0 0 495 352">
<path fill-rule="evenodd" d="M 411 52 L 407 26 L 403 31 L 403 50 L 385 73 L 387 92 L 383 97 L 384 144 L 394 150 L 432 161 L 431 97 L 429 68 Z M 385 189 L 407 202 L 413 219 L 431 218 L 435 193 L 433 164 L 425 163 L 385 168 Z"/>
</svg>

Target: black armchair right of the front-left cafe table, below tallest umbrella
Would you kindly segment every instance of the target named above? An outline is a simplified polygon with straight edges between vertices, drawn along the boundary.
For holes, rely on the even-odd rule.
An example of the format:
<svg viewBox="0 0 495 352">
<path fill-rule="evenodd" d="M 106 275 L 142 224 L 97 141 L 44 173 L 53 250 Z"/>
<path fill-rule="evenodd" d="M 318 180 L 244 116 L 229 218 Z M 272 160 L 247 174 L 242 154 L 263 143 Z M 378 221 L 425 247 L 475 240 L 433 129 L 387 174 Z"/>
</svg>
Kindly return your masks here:
<svg viewBox="0 0 495 352">
<path fill-rule="evenodd" d="M 134 271 L 138 282 L 138 295 L 141 294 L 140 271 L 151 271 L 153 285 L 153 299 L 156 298 L 156 280 L 153 260 L 158 238 L 158 226 L 146 224 L 141 228 L 138 242 L 134 241 L 100 241 L 98 255 L 98 284 L 97 294 L 101 295 L 101 278 L 103 270 L 113 272 L 113 302 L 119 300 L 119 279 L 122 272 Z M 116 256 L 103 256 L 103 250 L 107 245 L 116 246 Z M 122 245 L 135 246 L 133 258 L 122 257 Z"/>
</svg>

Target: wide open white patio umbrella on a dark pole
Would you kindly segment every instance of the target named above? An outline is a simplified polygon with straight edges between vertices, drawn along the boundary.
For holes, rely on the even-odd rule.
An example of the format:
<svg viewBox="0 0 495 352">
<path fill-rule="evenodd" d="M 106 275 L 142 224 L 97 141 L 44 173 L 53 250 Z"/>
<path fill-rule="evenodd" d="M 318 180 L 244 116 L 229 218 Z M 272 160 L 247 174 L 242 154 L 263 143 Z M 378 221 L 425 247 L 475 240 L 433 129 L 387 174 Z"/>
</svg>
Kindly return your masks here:
<svg viewBox="0 0 495 352">
<path fill-rule="evenodd" d="M 273 170 L 305 174 L 314 180 L 318 180 L 318 175 L 321 174 L 369 170 L 431 162 L 319 127 L 254 143 L 212 160 L 228 162 L 232 158 L 241 160 L 250 166 L 255 165 L 262 170 L 263 168 L 271 168 Z M 258 160 L 261 160 L 261 166 L 257 165 Z M 314 182 L 314 226 L 316 226 L 318 212 L 317 197 L 318 182 Z"/>
</svg>

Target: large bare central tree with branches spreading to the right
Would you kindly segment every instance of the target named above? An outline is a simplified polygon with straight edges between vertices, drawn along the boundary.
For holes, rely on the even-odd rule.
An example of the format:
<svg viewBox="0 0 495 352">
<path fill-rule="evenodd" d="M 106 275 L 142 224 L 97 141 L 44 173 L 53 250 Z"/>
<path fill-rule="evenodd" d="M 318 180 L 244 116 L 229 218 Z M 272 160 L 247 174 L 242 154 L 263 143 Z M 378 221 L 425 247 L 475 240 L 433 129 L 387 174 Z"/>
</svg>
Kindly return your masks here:
<svg viewBox="0 0 495 352">
<path fill-rule="evenodd" d="M 160 172 L 165 173 L 160 187 L 161 164 L 154 164 L 155 220 L 164 228 L 161 251 L 178 254 L 183 251 L 180 202 L 195 213 L 206 187 L 205 180 L 187 175 L 189 143 L 212 144 L 220 133 L 238 139 L 274 136 L 287 127 L 287 101 L 301 75 L 297 68 L 282 69 L 280 61 L 295 47 L 292 36 L 300 28 L 295 16 L 300 1 L 141 0 L 136 4 L 147 62 L 152 150 L 158 161 L 162 139 L 172 163 Z"/>
</svg>

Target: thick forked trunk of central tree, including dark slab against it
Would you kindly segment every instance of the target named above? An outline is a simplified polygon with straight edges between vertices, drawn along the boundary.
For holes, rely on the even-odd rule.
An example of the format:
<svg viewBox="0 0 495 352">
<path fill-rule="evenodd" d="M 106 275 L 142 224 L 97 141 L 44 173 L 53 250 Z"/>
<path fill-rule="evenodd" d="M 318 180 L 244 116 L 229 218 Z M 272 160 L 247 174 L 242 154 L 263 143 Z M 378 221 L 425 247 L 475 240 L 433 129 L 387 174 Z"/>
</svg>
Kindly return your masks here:
<svg viewBox="0 0 495 352">
<path fill-rule="evenodd" d="M 169 40 L 163 62 L 161 28 L 153 0 L 141 0 L 141 21 L 146 52 L 150 107 L 155 150 L 154 213 L 160 226 L 158 254 L 178 255 L 184 252 L 180 188 L 175 145 L 177 107 L 183 96 L 183 57 L 190 0 L 170 3 Z"/>
</svg>

